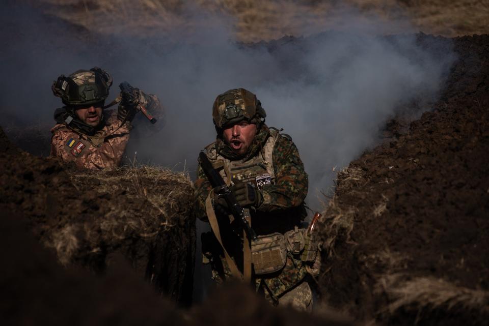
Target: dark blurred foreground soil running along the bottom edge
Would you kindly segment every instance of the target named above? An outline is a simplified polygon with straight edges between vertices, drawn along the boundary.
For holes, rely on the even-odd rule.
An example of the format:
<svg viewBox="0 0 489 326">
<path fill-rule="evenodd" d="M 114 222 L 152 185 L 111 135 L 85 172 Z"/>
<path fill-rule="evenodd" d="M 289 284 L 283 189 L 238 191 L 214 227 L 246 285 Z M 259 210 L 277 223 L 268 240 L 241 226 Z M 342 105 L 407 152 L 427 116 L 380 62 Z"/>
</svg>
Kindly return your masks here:
<svg viewBox="0 0 489 326">
<path fill-rule="evenodd" d="M 122 256 L 115 257 L 103 275 L 65 268 L 26 230 L 31 217 L 5 209 L 0 209 L 0 216 L 3 325 L 354 325 L 327 311 L 312 316 L 273 308 L 251 289 L 235 284 L 216 290 L 203 306 L 177 309 L 143 282 Z"/>
</svg>

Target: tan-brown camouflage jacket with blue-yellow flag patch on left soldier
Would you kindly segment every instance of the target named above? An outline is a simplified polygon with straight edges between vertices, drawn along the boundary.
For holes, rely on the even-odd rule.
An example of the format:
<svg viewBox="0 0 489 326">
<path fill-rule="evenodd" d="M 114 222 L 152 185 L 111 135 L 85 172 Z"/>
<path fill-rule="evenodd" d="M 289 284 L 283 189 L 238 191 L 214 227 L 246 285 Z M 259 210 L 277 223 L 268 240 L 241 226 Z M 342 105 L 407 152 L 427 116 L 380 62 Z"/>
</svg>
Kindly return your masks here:
<svg viewBox="0 0 489 326">
<path fill-rule="evenodd" d="M 129 127 L 126 125 L 107 136 L 98 147 L 76 132 L 61 128 L 53 131 L 51 156 L 60 157 L 65 162 L 75 162 L 79 168 L 113 169 L 119 166 L 128 140 Z"/>
</svg>

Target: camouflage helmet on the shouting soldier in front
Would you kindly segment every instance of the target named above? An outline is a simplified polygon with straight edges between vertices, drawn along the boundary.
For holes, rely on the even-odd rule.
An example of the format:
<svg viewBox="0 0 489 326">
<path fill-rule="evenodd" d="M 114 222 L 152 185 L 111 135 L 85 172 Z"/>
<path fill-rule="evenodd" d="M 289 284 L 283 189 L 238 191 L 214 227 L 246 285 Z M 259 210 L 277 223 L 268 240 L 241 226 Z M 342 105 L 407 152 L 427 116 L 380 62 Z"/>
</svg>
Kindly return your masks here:
<svg viewBox="0 0 489 326">
<path fill-rule="evenodd" d="M 256 95 L 244 88 L 236 88 L 218 95 L 212 107 L 216 129 L 224 129 L 242 120 L 259 123 L 265 116 L 265 110 Z"/>
</svg>

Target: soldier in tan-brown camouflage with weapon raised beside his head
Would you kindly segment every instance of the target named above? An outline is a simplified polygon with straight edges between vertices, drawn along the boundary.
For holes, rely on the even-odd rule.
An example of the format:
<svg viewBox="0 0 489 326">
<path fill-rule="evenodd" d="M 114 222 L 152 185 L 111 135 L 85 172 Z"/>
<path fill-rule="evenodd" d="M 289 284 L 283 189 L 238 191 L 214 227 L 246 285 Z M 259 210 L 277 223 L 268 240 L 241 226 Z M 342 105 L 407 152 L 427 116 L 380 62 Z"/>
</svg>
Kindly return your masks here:
<svg viewBox="0 0 489 326">
<path fill-rule="evenodd" d="M 97 67 L 77 70 L 68 77 L 61 75 L 53 82 L 52 92 L 65 106 L 54 114 L 57 124 L 51 129 L 51 156 L 74 162 L 79 168 L 115 168 L 141 106 L 155 113 L 158 127 L 165 124 L 158 98 L 138 88 L 133 88 L 132 102 L 121 101 L 117 111 L 105 111 L 111 106 L 104 106 L 111 85 L 112 77 Z"/>
</svg>

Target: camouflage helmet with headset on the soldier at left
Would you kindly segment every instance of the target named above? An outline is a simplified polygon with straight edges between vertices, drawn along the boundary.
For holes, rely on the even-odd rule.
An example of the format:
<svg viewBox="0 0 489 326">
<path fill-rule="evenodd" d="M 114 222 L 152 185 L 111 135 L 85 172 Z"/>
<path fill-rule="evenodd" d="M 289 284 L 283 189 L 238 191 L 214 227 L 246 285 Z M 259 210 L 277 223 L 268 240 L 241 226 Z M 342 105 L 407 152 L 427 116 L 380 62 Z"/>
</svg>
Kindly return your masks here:
<svg viewBox="0 0 489 326">
<path fill-rule="evenodd" d="M 61 75 L 52 82 L 52 93 L 61 97 L 69 106 L 90 106 L 103 102 L 112 85 L 112 77 L 106 71 L 93 67 L 90 70 L 77 70 L 68 77 Z"/>
</svg>

